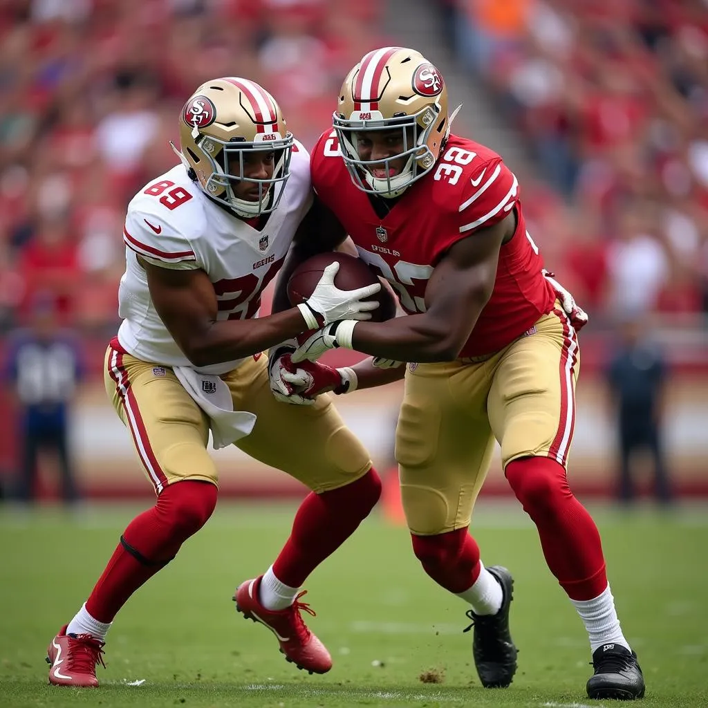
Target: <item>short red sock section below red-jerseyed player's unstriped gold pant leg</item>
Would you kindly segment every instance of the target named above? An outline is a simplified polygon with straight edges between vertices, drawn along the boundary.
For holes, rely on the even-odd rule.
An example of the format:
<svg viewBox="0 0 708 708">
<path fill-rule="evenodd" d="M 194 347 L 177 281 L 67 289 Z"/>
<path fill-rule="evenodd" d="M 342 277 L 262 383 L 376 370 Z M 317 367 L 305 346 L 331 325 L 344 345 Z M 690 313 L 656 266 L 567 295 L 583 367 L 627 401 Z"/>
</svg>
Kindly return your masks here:
<svg viewBox="0 0 708 708">
<path fill-rule="evenodd" d="M 413 552 L 423 570 L 450 593 L 464 593 L 479 577 L 479 546 L 467 527 L 436 536 L 413 536 Z"/>
</svg>

